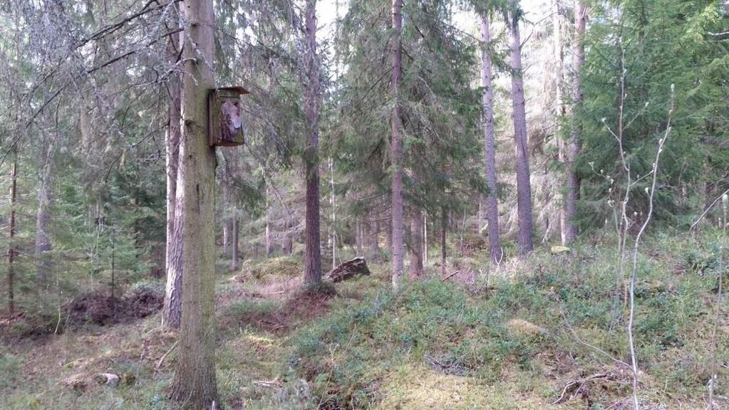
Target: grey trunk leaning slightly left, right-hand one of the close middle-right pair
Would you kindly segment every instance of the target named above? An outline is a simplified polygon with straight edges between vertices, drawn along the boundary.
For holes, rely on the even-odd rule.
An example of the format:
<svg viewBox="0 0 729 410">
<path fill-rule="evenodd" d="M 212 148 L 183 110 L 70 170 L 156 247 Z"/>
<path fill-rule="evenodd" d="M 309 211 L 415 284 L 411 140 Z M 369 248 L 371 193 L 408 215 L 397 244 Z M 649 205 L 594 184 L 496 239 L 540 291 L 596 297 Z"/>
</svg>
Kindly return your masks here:
<svg viewBox="0 0 729 410">
<path fill-rule="evenodd" d="M 516 196 L 519 231 L 517 243 L 519 254 L 526 255 L 534 250 L 531 240 L 531 180 L 529 176 L 529 140 L 526 133 L 526 108 L 524 81 L 521 68 L 521 36 L 519 35 L 518 1 L 514 1 L 507 15 L 509 28 L 509 49 L 511 66 L 512 116 L 514 120 L 514 142 L 516 151 Z"/>
</svg>

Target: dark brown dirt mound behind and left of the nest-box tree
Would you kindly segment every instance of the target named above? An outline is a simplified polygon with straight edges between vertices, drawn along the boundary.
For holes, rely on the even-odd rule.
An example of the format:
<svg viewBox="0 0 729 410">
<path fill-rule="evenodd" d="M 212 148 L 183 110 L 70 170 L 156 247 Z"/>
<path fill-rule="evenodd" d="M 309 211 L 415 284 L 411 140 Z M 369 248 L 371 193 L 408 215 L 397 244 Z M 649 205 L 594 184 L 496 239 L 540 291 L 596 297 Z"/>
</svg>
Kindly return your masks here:
<svg viewBox="0 0 729 410">
<path fill-rule="evenodd" d="M 162 309 L 164 295 L 140 286 L 127 296 L 112 296 L 106 291 L 84 293 L 66 306 L 69 324 L 94 323 L 99 326 L 145 318 Z"/>
</svg>

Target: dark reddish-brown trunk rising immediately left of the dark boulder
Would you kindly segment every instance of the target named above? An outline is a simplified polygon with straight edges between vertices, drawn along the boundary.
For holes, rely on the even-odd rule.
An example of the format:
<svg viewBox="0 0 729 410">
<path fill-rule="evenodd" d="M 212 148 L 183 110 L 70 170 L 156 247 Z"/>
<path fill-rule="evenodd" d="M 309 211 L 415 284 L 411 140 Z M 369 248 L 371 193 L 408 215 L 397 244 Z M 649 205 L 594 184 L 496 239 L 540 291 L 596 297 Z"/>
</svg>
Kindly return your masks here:
<svg viewBox="0 0 729 410">
<path fill-rule="evenodd" d="M 319 57 L 316 55 L 316 0 L 306 1 L 306 50 L 304 111 L 308 121 L 306 148 L 306 239 L 304 280 L 309 286 L 321 282 L 321 240 L 319 226 Z"/>
</svg>

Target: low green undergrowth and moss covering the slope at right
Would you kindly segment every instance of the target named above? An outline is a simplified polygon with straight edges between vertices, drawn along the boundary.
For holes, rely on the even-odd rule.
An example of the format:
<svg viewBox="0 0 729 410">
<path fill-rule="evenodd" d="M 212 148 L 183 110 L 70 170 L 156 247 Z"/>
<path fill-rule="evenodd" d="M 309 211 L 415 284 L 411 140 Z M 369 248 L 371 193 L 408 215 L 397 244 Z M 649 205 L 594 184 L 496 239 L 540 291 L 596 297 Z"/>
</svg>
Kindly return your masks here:
<svg viewBox="0 0 729 410">
<path fill-rule="evenodd" d="M 469 289 L 432 279 L 397 294 L 381 286 L 361 300 L 338 298 L 327 318 L 292 336 L 289 375 L 308 380 L 319 403 L 354 409 L 445 405 L 418 384 L 443 390 L 434 379 L 451 380 L 444 400 L 459 399 L 449 407 L 539 407 L 569 382 L 599 375 L 565 406 L 611 406 L 630 394 L 628 368 L 618 362 L 630 360 L 627 282 L 612 245 L 537 251 Z M 639 257 L 635 332 L 647 403 L 701 407 L 712 371 L 717 248 L 715 238 L 659 237 Z M 729 361 L 727 335 L 724 321 L 719 365 Z M 726 368 L 719 372 L 727 380 Z"/>
</svg>

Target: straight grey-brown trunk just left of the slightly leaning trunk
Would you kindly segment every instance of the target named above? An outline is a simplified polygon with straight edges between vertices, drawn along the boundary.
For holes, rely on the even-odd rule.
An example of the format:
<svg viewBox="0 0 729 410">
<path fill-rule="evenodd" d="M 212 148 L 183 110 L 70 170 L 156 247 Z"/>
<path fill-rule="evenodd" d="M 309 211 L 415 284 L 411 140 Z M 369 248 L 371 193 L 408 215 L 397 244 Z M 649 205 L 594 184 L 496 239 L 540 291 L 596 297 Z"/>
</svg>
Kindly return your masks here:
<svg viewBox="0 0 729 410">
<path fill-rule="evenodd" d="M 491 263 L 498 264 L 502 259 L 501 229 L 499 227 L 499 192 L 496 176 L 496 137 L 494 135 L 494 88 L 491 87 L 491 27 L 488 16 L 481 16 L 481 105 L 483 106 L 483 166 L 486 172 L 488 192 L 483 201 L 483 209 L 488 222 L 488 251 Z"/>
</svg>

